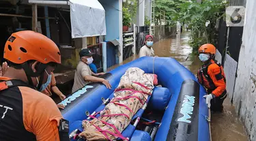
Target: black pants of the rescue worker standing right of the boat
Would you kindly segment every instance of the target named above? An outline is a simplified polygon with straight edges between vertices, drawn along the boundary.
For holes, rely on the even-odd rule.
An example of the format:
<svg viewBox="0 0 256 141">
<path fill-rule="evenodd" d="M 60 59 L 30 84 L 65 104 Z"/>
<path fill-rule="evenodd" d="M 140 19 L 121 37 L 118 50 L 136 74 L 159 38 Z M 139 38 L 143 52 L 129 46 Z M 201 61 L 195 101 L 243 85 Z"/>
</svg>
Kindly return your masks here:
<svg viewBox="0 0 256 141">
<path fill-rule="evenodd" d="M 214 112 L 222 112 L 223 111 L 223 102 L 227 98 L 227 92 L 223 92 L 221 96 L 212 98 L 211 100 L 211 110 Z"/>
</svg>

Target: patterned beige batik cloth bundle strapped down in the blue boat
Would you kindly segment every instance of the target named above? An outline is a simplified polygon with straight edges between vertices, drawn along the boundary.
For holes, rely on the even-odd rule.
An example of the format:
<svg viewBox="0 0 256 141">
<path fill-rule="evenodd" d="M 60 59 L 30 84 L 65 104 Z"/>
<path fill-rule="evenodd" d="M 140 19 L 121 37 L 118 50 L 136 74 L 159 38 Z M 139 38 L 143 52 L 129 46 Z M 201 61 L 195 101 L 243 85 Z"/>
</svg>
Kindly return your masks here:
<svg viewBox="0 0 256 141">
<path fill-rule="evenodd" d="M 147 74 L 140 68 L 128 68 L 115 89 L 114 98 L 106 104 L 98 119 L 83 121 L 84 131 L 79 136 L 86 140 L 115 140 L 122 138 L 122 132 L 132 117 L 142 108 L 152 89 L 157 84 L 157 76 Z"/>
</svg>

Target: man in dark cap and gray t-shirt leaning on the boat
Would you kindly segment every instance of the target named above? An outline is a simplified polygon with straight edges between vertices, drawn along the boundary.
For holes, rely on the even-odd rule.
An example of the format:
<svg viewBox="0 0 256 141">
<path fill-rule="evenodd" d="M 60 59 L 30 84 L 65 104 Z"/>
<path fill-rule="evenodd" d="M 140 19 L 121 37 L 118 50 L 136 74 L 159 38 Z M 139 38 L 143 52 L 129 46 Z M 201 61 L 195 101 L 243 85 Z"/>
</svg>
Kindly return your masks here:
<svg viewBox="0 0 256 141">
<path fill-rule="evenodd" d="M 89 82 L 100 82 L 106 85 L 108 89 L 111 89 L 111 84 L 106 79 L 99 78 L 99 75 L 104 75 L 104 73 L 93 73 L 89 68 L 94 59 L 92 58 L 91 52 L 89 49 L 82 49 L 79 52 L 81 61 L 76 66 L 76 73 L 74 74 L 74 85 L 72 87 L 72 93 L 77 90 L 85 87 Z"/>
</svg>

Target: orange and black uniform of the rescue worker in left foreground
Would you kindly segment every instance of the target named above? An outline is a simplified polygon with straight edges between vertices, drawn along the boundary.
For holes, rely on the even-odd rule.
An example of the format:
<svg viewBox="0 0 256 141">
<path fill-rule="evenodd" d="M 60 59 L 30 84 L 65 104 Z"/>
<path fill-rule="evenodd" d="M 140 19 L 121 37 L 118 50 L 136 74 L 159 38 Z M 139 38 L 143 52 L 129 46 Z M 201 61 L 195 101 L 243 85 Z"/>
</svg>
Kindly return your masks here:
<svg viewBox="0 0 256 141">
<path fill-rule="evenodd" d="M 58 125 L 62 118 L 55 102 L 45 94 L 26 86 L 6 89 L 0 85 L 1 140 L 59 141 Z"/>
</svg>

